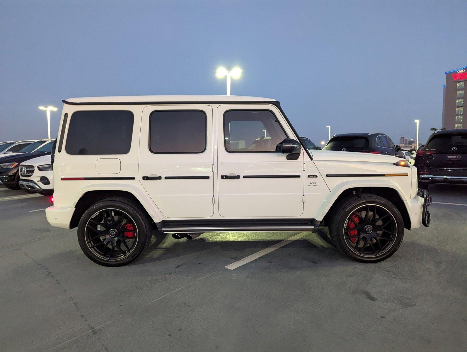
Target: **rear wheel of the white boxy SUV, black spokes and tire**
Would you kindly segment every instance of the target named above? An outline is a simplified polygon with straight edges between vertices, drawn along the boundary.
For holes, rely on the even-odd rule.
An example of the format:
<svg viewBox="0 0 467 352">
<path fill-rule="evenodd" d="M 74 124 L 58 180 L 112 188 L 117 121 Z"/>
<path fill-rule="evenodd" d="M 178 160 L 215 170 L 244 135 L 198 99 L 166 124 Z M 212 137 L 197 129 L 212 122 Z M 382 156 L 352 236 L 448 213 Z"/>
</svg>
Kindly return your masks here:
<svg viewBox="0 0 467 352">
<path fill-rule="evenodd" d="M 110 213 L 106 213 L 108 211 L 110 211 Z M 109 216 L 106 216 L 106 219 L 102 217 L 102 223 L 100 223 L 99 220 L 93 220 L 98 219 L 98 216 L 100 214 L 109 214 Z M 119 239 L 124 238 L 128 231 L 130 231 L 125 230 L 127 228 L 124 227 L 125 225 L 128 226 L 129 221 L 123 224 L 123 227 L 118 225 L 118 220 L 120 220 L 121 214 L 125 214 L 125 217 L 128 217 L 129 221 L 131 220 L 132 226 L 134 226 L 131 229 L 134 230 L 132 232 L 134 232 L 135 235 L 132 244 L 129 244 L 128 242 L 129 248 L 127 246 L 127 242 L 123 241 L 125 242 L 124 246 L 122 240 Z M 123 219 L 122 221 L 125 221 L 125 219 Z M 96 225 L 97 223 L 99 224 Z M 96 230 L 91 229 L 91 227 L 89 227 L 88 225 L 96 226 Z M 112 233 L 111 230 L 113 230 Z M 117 232 L 117 235 L 115 235 L 114 232 Z M 98 238 L 94 241 L 91 241 L 90 237 L 96 234 Z M 101 234 L 100 237 L 99 234 Z M 151 240 L 151 235 L 152 225 L 148 215 L 141 208 L 140 204 L 125 197 L 109 198 L 104 201 L 99 201 L 93 204 L 85 211 L 83 216 L 81 216 L 81 219 L 79 220 L 78 224 L 78 243 L 81 247 L 81 250 L 85 253 L 86 257 L 91 259 L 94 263 L 97 263 L 102 266 L 124 266 L 131 263 L 139 257 L 144 248 L 149 244 Z M 131 242 L 130 238 L 126 238 L 125 240 L 127 239 L 129 239 Z M 102 242 L 99 243 L 99 241 Z M 109 243 L 112 247 L 110 255 L 107 251 L 107 249 L 109 249 Z M 103 252 L 103 256 L 99 254 L 99 246 L 100 248 L 102 248 L 101 252 Z M 92 249 L 90 247 L 93 247 L 95 249 Z M 117 249 L 115 253 L 118 254 L 119 252 L 121 252 L 119 254 L 120 258 L 112 258 L 114 249 L 117 247 L 119 247 L 120 249 Z M 122 247 L 127 247 L 128 253 L 126 253 L 126 250 L 122 251 Z M 106 252 L 107 256 L 109 257 L 108 259 L 105 258 Z"/>
</svg>

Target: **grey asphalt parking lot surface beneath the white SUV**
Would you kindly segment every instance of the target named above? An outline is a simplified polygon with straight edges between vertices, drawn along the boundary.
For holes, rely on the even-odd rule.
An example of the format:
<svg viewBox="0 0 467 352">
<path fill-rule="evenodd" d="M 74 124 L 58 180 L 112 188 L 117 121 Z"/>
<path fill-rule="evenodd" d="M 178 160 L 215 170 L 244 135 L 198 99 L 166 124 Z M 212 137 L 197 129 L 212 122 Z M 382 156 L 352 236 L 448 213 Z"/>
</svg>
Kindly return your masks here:
<svg viewBox="0 0 467 352">
<path fill-rule="evenodd" d="M 109 268 L 47 223 L 46 197 L 0 187 L 0 351 L 465 351 L 467 187 L 429 192 L 430 228 L 377 264 L 324 229 L 153 237 Z"/>
</svg>

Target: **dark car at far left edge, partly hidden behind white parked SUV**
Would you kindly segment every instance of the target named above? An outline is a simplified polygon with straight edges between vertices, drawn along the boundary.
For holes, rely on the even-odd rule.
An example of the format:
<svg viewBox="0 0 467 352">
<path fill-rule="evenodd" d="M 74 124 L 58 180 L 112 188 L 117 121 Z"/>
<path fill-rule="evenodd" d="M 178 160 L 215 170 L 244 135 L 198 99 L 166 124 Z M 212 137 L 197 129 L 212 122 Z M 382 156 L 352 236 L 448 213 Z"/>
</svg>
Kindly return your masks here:
<svg viewBox="0 0 467 352">
<path fill-rule="evenodd" d="M 42 142 L 43 143 L 43 142 Z M 54 141 L 42 145 L 39 149 L 33 152 L 23 152 L 21 154 L 3 157 L 0 159 L 0 184 L 3 184 L 9 189 L 20 189 L 19 180 L 20 173 L 18 169 L 23 161 L 29 159 L 42 157 L 43 155 L 52 153 L 52 146 Z M 37 147 L 36 147 L 37 148 Z"/>
</svg>

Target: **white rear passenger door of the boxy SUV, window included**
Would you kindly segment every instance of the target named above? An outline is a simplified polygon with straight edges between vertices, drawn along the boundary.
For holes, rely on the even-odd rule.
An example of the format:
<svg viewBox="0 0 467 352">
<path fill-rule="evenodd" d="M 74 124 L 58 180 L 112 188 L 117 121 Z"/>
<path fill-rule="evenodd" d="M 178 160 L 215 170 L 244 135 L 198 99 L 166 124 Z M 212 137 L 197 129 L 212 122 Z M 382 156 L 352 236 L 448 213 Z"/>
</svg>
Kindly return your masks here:
<svg viewBox="0 0 467 352">
<path fill-rule="evenodd" d="M 163 216 L 212 216 L 212 108 L 146 107 L 140 138 L 140 182 Z"/>
</svg>

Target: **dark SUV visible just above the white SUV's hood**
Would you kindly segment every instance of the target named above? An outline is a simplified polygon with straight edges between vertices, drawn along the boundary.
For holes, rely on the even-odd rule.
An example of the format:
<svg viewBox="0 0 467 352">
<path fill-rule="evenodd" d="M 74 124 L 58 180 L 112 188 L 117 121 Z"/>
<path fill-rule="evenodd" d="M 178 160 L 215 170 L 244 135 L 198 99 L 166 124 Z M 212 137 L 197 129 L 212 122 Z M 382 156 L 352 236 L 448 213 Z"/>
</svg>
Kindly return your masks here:
<svg viewBox="0 0 467 352">
<path fill-rule="evenodd" d="M 325 151 L 356 151 L 359 153 L 372 153 L 394 155 L 405 158 L 401 147 L 395 145 L 391 138 L 384 133 L 344 133 L 334 135 L 323 148 Z"/>
</svg>

